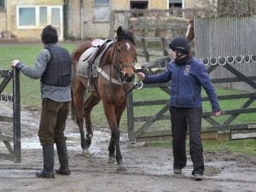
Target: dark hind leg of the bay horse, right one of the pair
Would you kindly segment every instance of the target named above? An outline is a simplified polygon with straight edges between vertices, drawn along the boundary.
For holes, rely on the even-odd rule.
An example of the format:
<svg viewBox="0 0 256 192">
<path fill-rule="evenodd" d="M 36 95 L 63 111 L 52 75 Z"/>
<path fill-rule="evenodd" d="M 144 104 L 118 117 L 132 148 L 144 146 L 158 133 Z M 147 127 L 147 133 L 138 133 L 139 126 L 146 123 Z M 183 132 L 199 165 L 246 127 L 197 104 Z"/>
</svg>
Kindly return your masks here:
<svg viewBox="0 0 256 192">
<path fill-rule="evenodd" d="M 90 148 L 91 138 L 93 137 L 93 132 L 91 129 L 90 113 L 92 108 L 96 106 L 101 101 L 101 98 L 95 95 L 90 95 L 88 99 L 84 102 L 84 119 L 86 125 L 86 139 L 85 147 Z"/>
</svg>

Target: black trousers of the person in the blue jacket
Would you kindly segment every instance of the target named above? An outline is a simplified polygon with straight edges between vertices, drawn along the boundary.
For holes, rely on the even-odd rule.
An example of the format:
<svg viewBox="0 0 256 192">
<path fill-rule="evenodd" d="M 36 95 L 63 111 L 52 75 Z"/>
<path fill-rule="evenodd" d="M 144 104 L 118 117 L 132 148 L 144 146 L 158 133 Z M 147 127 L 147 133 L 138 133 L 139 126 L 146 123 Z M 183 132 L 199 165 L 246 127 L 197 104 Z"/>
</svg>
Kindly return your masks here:
<svg viewBox="0 0 256 192">
<path fill-rule="evenodd" d="M 201 144 L 202 108 L 170 108 L 172 122 L 173 168 L 186 166 L 186 135 L 189 129 L 189 154 L 194 173 L 204 172 L 203 147 Z"/>
</svg>

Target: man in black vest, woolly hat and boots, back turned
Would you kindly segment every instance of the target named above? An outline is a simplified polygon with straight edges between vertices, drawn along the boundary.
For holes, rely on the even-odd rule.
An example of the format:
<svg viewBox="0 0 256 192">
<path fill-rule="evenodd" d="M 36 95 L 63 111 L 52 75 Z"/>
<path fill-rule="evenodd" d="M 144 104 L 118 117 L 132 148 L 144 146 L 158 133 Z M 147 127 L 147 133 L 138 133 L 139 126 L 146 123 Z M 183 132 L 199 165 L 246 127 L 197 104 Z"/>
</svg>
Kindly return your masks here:
<svg viewBox="0 0 256 192">
<path fill-rule="evenodd" d="M 44 49 L 38 54 L 34 67 L 27 67 L 19 60 L 12 61 L 21 73 L 41 80 L 42 111 L 38 137 L 43 146 L 44 169 L 37 177 L 54 178 L 56 174 L 69 175 L 66 137 L 64 130 L 71 101 L 70 82 L 72 61 L 67 49 L 56 45 L 58 35 L 53 26 L 45 26 L 41 34 Z M 60 168 L 54 172 L 54 144 Z"/>
</svg>

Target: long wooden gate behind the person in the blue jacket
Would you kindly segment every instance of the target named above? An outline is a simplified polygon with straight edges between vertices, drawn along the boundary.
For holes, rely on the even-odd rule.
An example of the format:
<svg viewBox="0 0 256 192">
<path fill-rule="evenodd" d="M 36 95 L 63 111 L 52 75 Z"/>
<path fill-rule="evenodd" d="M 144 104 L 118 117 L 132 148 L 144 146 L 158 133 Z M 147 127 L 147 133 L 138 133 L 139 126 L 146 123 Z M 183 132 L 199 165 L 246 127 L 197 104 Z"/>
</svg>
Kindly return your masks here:
<svg viewBox="0 0 256 192">
<path fill-rule="evenodd" d="M 254 55 L 256 56 L 256 55 Z M 256 64 L 256 62 L 254 62 Z M 252 79 L 256 80 L 256 75 L 251 77 L 246 77 L 244 74 L 237 71 L 232 65 L 225 63 L 224 65 L 211 65 L 207 68 L 208 73 L 212 73 L 217 67 L 225 67 L 236 75 L 236 78 L 220 78 L 212 79 L 212 84 L 220 84 L 227 82 L 246 82 L 250 84 L 254 89 L 256 89 L 256 84 Z M 128 106 L 127 106 L 127 119 L 128 119 L 128 137 L 131 142 L 134 141 L 155 141 L 155 140 L 166 140 L 172 137 L 170 115 L 169 115 L 169 92 L 170 84 L 144 84 L 143 89 L 161 89 L 166 93 L 166 100 L 154 100 L 154 101 L 135 101 L 136 94 L 139 94 L 135 90 L 131 92 L 128 96 Z M 146 93 L 148 94 L 148 93 Z M 150 93 L 149 93 L 150 94 Z M 167 95 L 168 94 L 168 95 Z M 146 97 L 146 96 L 145 96 Z M 231 100 L 243 99 L 240 108 L 232 108 L 228 102 Z M 256 93 L 254 92 L 241 92 L 229 95 L 218 95 L 219 102 L 225 102 L 222 106 L 222 119 L 218 121 L 216 118 L 212 118 L 211 111 L 203 111 L 203 127 L 202 127 L 202 137 L 203 139 L 217 139 L 219 131 L 228 131 L 231 138 L 239 137 L 256 137 Z M 203 96 L 203 105 L 210 106 L 207 96 Z M 143 112 L 148 112 L 151 110 L 151 106 L 159 105 L 160 109 L 152 116 L 143 116 Z M 135 111 L 137 108 L 144 108 L 142 110 L 138 109 L 136 115 Z M 147 109 L 146 109 L 147 108 Z M 250 113 L 254 115 L 255 118 L 251 119 L 250 122 L 236 123 L 236 118 L 240 114 Z M 219 118 L 218 118 L 219 119 Z M 167 123 L 160 121 L 167 120 Z M 156 123 L 154 130 L 150 130 L 150 126 Z M 164 125 L 163 125 L 164 124 Z M 164 130 L 163 126 L 167 126 Z M 246 133 L 246 134 L 245 134 Z M 243 136 L 241 136 L 241 134 Z"/>
</svg>

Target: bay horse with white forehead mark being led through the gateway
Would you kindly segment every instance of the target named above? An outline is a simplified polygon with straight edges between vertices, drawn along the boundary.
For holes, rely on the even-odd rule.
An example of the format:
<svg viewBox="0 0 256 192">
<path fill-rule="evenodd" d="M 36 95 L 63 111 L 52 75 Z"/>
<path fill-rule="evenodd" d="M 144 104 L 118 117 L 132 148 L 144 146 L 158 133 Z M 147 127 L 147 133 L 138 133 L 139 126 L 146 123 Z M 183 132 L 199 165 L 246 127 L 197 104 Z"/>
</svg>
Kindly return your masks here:
<svg viewBox="0 0 256 192">
<path fill-rule="evenodd" d="M 96 42 L 96 43 L 95 43 Z M 101 100 L 104 113 L 108 119 L 111 137 L 108 145 L 109 163 L 117 161 L 118 171 L 126 171 L 119 148 L 119 122 L 126 107 L 126 93 L 133 88 L 135 78 L 136 44 L 134 29 L 125 30 L 118 27 L 117 37 L 111 44 L 99 64 L 97 78 L 86 79 L 77 74 L 79 58 L 86 49 L 97 44 L 97 41 L 86 41 L 74 49 L 71 57 L 73 61 L 73 107 L 75 108 L 76 122 L 79 125 L 81 147 L 83 154 L 89 152 L 93 131 L 91 129 L 90 112 Z M 84 99 L 85 90 L 93 82 L 95 89 L 90 96 Z M 86 125 L 86 138 L 84 137 L 84 120 Z M 116 154 L 114 154 L 116 151 Z"/>
</svg>

